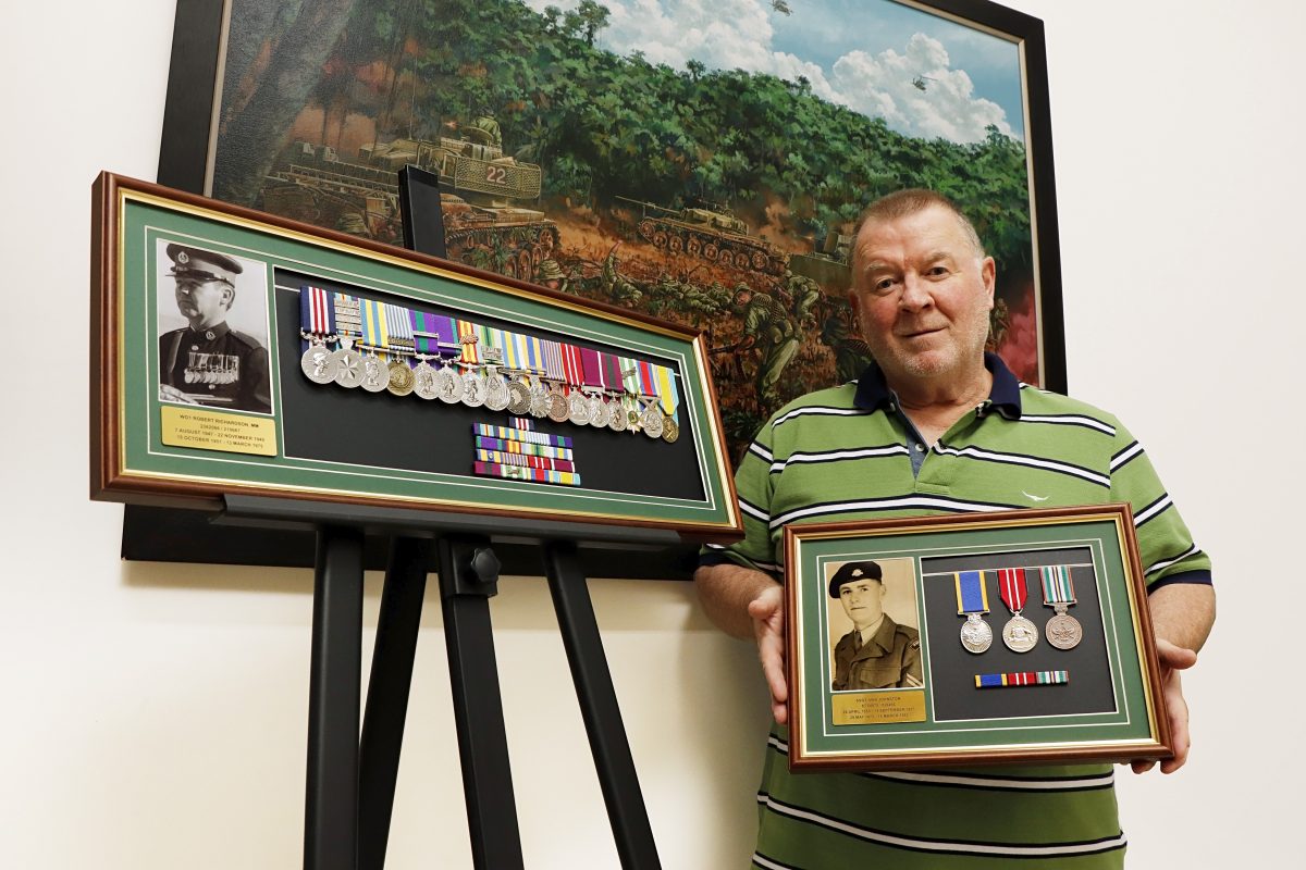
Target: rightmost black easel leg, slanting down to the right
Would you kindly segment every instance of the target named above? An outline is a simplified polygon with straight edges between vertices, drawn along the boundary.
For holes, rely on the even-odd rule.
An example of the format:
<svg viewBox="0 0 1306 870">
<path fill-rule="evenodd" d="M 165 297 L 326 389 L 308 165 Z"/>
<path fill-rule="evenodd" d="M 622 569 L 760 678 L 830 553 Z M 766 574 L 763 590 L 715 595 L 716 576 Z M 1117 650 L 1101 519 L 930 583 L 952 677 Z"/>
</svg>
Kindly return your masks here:
<svg viewBox="0 0 1306 870">
<path fill-rule="evenodd" d="M 622 710 L 613 689 L 613 674 L 603 655 L 603 640 L 594 620 L 585 577 L 576 558 L 576 545 L 552 541 L 546 545 L 549 591 L 558 612 L 572 681 L 581 716 L 589 733 L 598 783 L 607 803 L 607 819 L 616 839 L 624 870 L 661 867 L 648 810 L 635 773 L 635 759 L 622 724 Z"/>
</svg>

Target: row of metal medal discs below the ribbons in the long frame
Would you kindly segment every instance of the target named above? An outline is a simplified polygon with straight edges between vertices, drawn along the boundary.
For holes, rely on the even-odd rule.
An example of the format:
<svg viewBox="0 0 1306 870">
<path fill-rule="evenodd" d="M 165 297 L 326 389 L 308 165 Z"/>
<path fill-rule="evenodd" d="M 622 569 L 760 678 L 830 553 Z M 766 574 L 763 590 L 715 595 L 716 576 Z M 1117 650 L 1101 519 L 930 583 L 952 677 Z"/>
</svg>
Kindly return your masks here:
<svg viewBox="0 0 1306 870">
<path fill-rule="evenodd" d="M 409 368 L 407 363 L 390 360 L 389 364 L 375 353 L 360 353 L 354 350 L 349 338 L 340 338 L 340 348 L 328 350 L 325 339 L 308 333 L 302 335 L 310 340 L 308 350 L 299 359 L 299 368 L 313 383 L 338 383 L 343 387 L 363 387 L 370 393 L 387 390 L 394 395 L 415 394 L 423 399 L 440 399 L 449 404 L 462 403 L 468 407 L 487 407 L 491 411 L 508 411 L 521 416 L 549 417 L 554 423 L 569 420 L 576 425 L 607 427 L 614 432 L 643 432 L 649 438 L 661 438 L 667 443 L 680 437 L 679 427 L 670 416 L 663 415 L 658 399 L 640 407 L 639 397 L 635 408 L 626 404 L 619 394 L 563 393 L 560 383 L 546 386 L 539 378 L 532 378 L 525 372 L 513 372 L 507 377 L 499 365 L 485 365 L 485 373 L 469 368 L 461 374 L 448 360 L 440 360 L 440 368 L 427 363 L 434 356 L 414 353 L 418 364 Z M 390 348 L 390 352 L 394 352 Z M 505 369 L 507 370 L 507 369 Z"/>
</svg>

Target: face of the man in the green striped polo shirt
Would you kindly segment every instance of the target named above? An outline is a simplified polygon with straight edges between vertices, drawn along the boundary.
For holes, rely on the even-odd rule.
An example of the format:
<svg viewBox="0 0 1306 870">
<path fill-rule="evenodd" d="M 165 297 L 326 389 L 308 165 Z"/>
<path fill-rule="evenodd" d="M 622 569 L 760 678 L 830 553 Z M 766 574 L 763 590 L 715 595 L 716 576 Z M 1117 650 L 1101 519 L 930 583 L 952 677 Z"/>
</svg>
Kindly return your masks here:
<svg viewBox="0 0 1306 870">
<path fill-rule="evenodd" d="M 891 385 L 947 385 L 982 365 L 993 308 L 993 257 L 943 206 L 867 223 L 853 243 L 849 301 Z"/>
</svg>

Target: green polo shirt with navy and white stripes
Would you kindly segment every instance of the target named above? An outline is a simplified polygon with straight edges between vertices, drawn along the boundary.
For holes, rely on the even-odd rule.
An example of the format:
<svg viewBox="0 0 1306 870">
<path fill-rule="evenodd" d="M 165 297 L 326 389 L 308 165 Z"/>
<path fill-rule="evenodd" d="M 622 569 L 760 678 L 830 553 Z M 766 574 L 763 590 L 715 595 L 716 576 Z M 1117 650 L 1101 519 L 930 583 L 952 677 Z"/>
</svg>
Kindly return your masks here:
<svg viewBox="0 0 1306 870">
<path fill-rule="evenodd" d="M 700 562 L 778 580 L 789 523 L 1128 502 L 1149 588 L 1211 583 L 1209 560 L 1119 420 L 1020 383 L 996 356 L 985 364 L 989 398 L 932 447 L 918 445 L 875 367 L 781 408 L 735 475 L 746 537 Z M 925 454 L 917 473 L 913 450 Z M 755 867 L 1123 866 L 1109 764 L 793 776 L 786 738 L 776 725 L 768 741 Z"/>
</svg>

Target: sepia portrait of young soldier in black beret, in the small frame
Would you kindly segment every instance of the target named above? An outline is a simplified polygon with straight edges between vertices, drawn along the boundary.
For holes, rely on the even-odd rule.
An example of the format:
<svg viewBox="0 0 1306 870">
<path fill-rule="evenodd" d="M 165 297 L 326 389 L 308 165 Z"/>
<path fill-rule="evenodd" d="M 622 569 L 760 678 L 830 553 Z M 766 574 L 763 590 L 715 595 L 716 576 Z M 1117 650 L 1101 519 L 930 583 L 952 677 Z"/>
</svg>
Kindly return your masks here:
<svg viewBox="0 0 1306 870">
<path fill-rule="evenodd" d="M 835 691 L 922 685 L 921 637 L 884 613 L 884 573 L 878 562 L 841 565 L 829 579 L 829 596 L 853 621 L 853 630 L 835 646 Z"/>
</svg>

